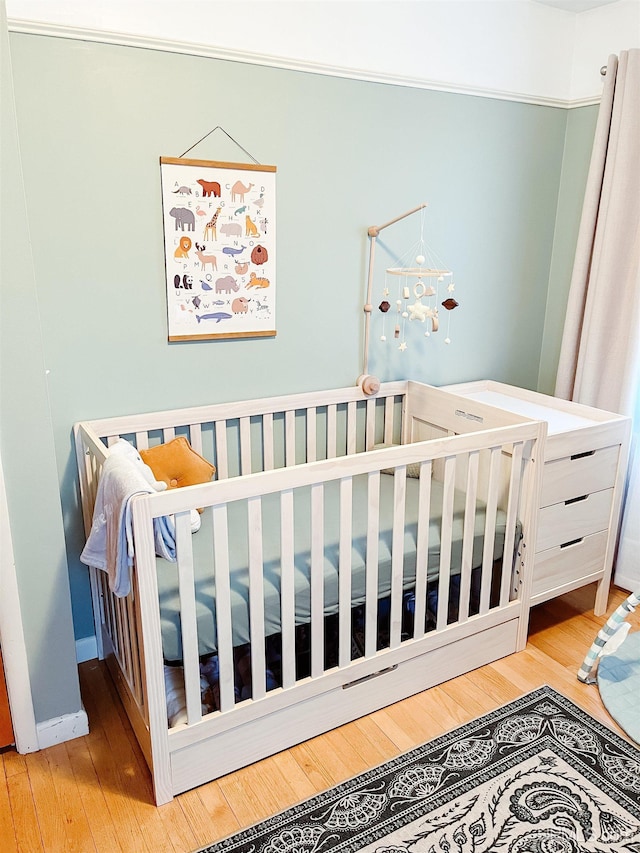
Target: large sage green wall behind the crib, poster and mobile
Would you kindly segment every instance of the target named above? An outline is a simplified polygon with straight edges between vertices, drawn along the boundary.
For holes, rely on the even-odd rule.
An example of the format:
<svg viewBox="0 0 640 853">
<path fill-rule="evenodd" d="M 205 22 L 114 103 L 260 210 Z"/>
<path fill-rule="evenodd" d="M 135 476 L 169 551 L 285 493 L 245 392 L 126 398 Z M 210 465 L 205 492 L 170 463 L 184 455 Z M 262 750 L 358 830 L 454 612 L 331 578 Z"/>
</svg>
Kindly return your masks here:
<svg viewBox="0 0 640 853">
<path fill-rule="evenodd" d="M 352 385 L 369 225 L 427 201 L 460 302 L 450 346 L 418 335 L 400 354 L 376 332 L 383 379 L 536 386 L 566 111 L 26 34 L 11 46 L 77 637 L 93 625 L 73 423 Z M 216 125 L 278 167 L 278 335 L 169 345 L 158 159 Z M 246 160 L 220 131 L 190 156 Z M 380 259 L 418 228 L 385 231 Z"/>
</svg>

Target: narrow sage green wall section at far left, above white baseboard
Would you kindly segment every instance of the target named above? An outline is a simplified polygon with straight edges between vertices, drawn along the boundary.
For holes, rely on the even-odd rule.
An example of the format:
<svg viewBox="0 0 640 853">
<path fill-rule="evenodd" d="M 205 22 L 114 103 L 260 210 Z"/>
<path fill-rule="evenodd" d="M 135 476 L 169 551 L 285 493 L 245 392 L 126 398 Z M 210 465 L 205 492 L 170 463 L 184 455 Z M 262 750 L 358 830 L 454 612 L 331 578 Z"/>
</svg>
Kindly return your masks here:
<svg viewBox="0 0 640 853">
<path fill-rule="evenodd" d="M 81 702 L 4 2 L 0 57 L 0 451 L 34 714 L 40 723 L 76 713 Z"/>
</svg>

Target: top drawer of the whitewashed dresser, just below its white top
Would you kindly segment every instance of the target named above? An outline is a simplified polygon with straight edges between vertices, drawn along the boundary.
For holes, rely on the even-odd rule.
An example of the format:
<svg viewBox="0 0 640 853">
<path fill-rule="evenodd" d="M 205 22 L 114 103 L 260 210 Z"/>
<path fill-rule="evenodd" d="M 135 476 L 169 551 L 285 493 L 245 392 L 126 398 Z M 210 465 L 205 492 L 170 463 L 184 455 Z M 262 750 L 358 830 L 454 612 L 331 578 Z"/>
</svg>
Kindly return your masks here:
<svg viewBox="0 0 640 853">
<path fill-rule="evenodd" d="M 619 454 L 620 445 L 615 444 L 546 462 L 542 472 L 540 506 L 612 488 Z"/>
</svg>

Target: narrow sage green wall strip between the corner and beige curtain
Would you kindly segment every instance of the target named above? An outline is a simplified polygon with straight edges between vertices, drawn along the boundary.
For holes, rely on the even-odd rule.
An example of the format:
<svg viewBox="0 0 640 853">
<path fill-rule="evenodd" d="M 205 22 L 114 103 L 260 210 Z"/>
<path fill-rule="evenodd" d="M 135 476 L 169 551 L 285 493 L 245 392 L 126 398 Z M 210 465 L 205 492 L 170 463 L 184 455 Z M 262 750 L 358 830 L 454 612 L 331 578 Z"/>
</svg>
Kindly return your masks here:
<svg viewBox="0 0 640 853">
<path fill-rule="evenodd" d="M 598 107 L 568 111 L 538 390 L 553 394 Z"/>
</svg>

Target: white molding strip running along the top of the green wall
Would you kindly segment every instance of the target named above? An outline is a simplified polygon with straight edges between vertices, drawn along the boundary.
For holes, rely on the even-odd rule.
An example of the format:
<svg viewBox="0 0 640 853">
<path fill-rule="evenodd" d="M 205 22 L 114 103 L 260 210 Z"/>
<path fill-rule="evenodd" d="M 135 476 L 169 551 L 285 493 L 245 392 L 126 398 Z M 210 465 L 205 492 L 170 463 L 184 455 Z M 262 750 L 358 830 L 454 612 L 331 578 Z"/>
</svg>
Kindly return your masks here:
<svg viewBox="0 0 640 853">
<path fill-rule="evenodd" d="M 180 53 L 188 56 L 202 56 L 209 59 L 222 59 L 228 62 L 243 62 L 249 65 L 261 65 L 269 68 L 281 68 L 288 71 L 301 71 L 308 74 L 320 74 L 328 77 L 342 77 L 349 80 L 361 80 L 368 83 L 384 83 L 391 86 L 406 86 L 414 89 L 430 89 L 436 92 L 448 92 L 456 95 L 471 95 L 481 98 L 493 98 L 501 101 L 535 104 L 538 106 L 573 109 L 591 106 L 600 102 L 599 96 L 566 100 L 543 95 L 531 95 L 525 92 L 509 92 L 502 89 L 490 89 L 466 86 L 458 83 L 409 77 L 401 74 L 381 74 L 368 69 L 349 68 L 348 66 L 325 65 L 318 62 L 292 57 L 272 56 L 267 53 L 253 53 L 236 49 L 216 47 L 172 39 L 160 39 L 151 36 L 120 33 L 108 30 L 87 29 L 81 27 L 60 26 L 40 21 L 9 18 L 7 26 L 10 32 L 50 38 L 73 39 L 76 41 L 115 44 L 122 47 L 134 47 L 142 50 L 158 50 L 166 53 Z"/>
</svg>

